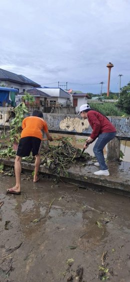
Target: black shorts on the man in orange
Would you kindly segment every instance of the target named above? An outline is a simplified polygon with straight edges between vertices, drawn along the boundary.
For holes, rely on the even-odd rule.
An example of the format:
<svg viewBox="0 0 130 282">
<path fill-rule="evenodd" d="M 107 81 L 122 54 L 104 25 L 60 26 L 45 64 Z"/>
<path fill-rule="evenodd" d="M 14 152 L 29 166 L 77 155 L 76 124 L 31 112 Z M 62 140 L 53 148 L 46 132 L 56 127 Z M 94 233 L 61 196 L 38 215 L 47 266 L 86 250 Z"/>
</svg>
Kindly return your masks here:
<svg viewBox="0 0 130 282">
<path fill-rule="evenodd" d="M 18 148 L 16 151 L 16 156 L 27 157 L 32 151 L 32 156 L 35 156 L 40 153 L 41 149 L 41 140 L 37 137 L 22 137 L 20 138 Z"/>
</svg>

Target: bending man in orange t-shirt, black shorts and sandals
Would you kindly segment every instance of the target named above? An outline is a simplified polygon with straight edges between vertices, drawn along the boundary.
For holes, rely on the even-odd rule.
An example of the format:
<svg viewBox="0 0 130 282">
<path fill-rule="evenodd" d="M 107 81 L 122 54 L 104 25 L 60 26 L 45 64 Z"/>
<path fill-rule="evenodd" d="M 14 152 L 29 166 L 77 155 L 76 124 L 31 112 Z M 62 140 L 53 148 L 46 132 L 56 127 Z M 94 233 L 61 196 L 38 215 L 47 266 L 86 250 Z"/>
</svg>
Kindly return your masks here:
<svg viewBox="0 0 130 282">
<path fill-rule="evenodd" d="M 48 127 L 46 121 L 43 119 L 43 114 L 40 111 L 33 111 L 32 116 L 26 117 L 22 121 L 22 132 L 20 141 L 16 151 L 15 157 L 15 178 L 16 184 L 14 187 L 9 188 L 7 193 L 20 194 L 20 173 L 21 173 L 21 158 L 30 155 L 35 156 L 35 169 L 33 182 L 37 182 L 38 170 L 40 166 L 40 149 L 42 141 L 42 130 L 45 132 L 47 139 L 52 141 L 52 137 L 48 133 Z"/>
</svg>

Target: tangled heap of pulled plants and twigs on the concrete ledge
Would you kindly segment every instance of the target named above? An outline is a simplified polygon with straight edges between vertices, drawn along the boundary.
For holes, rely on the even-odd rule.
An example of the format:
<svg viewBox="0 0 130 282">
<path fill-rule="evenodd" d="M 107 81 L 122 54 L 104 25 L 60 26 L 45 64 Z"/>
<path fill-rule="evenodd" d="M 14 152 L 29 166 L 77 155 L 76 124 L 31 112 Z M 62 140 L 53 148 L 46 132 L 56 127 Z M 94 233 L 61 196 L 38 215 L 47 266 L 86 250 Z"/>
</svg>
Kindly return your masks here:
<svg viewBox="0 0 130 282">
<path fill-rule="evenodd" d="M 42 144 L 42 148 L 40 151 L 41 156 L 41 164 L 51 170 L 54 174 L 59 174 L 61 170 L 67 174 L 66 169 L 70 166 L 70 164 L 75 163 L 77 157 L 80 157 L 81 150 L 75 148 L 67 141 L 67 138 L 62 137 L 59 140 L 57 146 L 49 145 L 45 146 Z M 0 158 L 3 159 L 11 159 L 15 158 L 15 151 L 12 150 L 11 147 L 4 148 L 4 150 L 0 150 Z M 78 158 L 77 158 L 78 159 Z M 82 158 L 78 159 L 79 161 L 89 161 L 93 159 L 88 153 L 83 153 Z M 29 157 L 23 157 L 22 161 L 33 163 L 35 158 L 30 154 Z"/>
</svg>

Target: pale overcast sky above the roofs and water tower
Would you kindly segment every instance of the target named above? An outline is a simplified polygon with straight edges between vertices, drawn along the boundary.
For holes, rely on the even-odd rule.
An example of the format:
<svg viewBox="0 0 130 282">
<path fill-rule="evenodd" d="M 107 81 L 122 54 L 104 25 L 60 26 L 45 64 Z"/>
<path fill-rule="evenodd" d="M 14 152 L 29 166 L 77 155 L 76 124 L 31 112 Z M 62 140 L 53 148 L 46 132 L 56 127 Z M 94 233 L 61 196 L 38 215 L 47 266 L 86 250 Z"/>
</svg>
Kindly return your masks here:
<svg viewBox="0 0 130 282">
<path fill-rule="evenodd" d="M 118 92 L 130 81 L 129 0 L 0 1 L 0 68 L 41 86 Z M 63 87 L 64 89 L 64 87 Z"/>
</svg>

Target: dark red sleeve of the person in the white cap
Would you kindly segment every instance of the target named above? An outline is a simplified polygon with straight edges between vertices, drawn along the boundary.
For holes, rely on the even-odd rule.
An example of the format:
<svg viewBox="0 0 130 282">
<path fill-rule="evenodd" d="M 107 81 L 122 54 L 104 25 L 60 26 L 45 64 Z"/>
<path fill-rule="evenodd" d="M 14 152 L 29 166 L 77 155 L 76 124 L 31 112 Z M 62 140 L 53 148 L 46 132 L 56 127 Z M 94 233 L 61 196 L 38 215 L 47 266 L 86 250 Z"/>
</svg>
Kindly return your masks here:
<svg viewBox="0 0 130 282">
<path fill-rule="evenodd" d="M 92 128 L 92 133 L 90 135 L 90 138 L 96 139 L 100 131 L 100 122 L 98 121 L 94 113 L 88 112 L 87 117 L 88 117 L 88 122 Z"/>
</svg>

